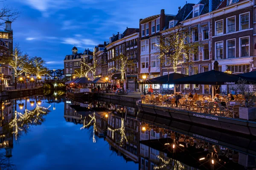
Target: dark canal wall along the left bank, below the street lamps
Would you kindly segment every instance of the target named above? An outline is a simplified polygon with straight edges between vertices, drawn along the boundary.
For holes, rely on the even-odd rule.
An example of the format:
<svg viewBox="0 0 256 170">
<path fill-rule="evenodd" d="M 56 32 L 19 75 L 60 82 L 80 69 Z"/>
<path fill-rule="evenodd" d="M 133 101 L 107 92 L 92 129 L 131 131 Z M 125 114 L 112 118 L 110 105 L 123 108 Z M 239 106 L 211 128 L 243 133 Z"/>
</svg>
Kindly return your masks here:
<svg viewBox="0 0 256 170">
<path fill-rule="evenodd" d="M 2 91 L 0 92 L 0 101 L 6 99 L 15 99 L 19 97 L 32 96 L 35 94 L 43 94 L 43 87 L 33 88 L 33 89 L 22 89 L 22 90 L 12 90 L 12 91 Z"/>
</svg>

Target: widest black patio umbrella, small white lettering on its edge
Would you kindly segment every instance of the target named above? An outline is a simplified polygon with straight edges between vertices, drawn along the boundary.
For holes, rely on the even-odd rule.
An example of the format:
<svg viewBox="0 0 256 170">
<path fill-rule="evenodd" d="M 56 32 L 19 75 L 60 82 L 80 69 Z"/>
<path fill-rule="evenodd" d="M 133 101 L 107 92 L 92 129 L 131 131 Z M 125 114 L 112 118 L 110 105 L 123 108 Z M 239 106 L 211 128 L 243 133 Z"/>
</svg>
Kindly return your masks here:
<svg viewBox="0 0 256 170">
<path fill-rule="evenodd" d="M 239 79 L 247 81 L 247 84 L 255 84 L 256 80 L 236 74 L 228 74 L 221 71 L 206 71 L 204 73 L 175 79 L 175 84 L 197 84 L 197 85 L 235 85 Z"/>
</svg>

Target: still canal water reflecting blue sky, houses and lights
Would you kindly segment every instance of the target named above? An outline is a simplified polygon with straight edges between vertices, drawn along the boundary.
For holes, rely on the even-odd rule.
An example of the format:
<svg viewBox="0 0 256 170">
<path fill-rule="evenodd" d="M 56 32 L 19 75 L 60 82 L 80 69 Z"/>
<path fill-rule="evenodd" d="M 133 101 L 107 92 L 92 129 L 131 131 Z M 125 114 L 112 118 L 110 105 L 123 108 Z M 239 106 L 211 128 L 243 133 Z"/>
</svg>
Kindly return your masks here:
<svg viewBox="0 0 256 170">
<path fill-rule="evenodd" d="M 61 91 L 1 102 L 1 170 L 252 170 L 256 139 Z"/>
</svg>

